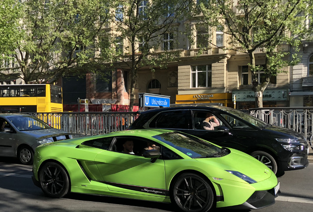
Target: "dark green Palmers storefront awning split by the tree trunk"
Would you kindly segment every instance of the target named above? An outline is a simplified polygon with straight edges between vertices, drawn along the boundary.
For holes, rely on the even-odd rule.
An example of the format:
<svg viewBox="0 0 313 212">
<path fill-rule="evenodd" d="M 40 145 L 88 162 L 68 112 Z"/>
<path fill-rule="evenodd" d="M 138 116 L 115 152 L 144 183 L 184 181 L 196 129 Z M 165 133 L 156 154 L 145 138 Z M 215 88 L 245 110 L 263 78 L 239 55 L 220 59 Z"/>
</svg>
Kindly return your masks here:
<svg viewBox="0 0 313 212">
<path fill-rule="evenodd" d="M 233 90 L 237 109 L 255 107 L 255 94 L 251 89 Z M 288 88 L 267 88 L 263 92 L 263 107 L 288 106 Z"/>
</svg>

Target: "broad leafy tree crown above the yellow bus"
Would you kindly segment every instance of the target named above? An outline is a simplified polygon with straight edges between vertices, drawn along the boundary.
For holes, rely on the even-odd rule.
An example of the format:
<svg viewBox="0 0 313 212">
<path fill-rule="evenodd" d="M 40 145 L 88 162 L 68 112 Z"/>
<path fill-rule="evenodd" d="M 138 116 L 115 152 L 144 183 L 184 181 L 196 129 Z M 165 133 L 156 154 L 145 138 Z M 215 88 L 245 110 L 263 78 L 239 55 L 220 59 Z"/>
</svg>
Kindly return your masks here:
<svg viewBox="0 0 313 212">
<path fill-rule="evenodd" d="M 85 75 L 98 67 L 95 39 L 106 20 L 107 0 L 27 0 L 20 28 L 23 37 L 12 48 L 16 67 L 1 72 L 25 83 L 53 83 L 66 74 Z M 101 16 L 101 20 L 100 20 Z M 12 53 L 13 52 L 13 53 Z M 94 65 L 95 64 L 95 65 Z M 2 69 L 3 70 L 3 69 Z"/>
</svg>

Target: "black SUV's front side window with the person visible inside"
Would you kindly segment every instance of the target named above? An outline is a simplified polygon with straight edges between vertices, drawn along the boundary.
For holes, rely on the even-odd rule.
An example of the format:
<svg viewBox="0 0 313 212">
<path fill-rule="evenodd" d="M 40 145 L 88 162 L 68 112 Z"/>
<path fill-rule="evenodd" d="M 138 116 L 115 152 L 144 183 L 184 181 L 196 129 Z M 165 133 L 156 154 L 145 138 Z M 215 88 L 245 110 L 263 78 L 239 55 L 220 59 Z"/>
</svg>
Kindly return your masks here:
<svg viewBox="0 0 313 212">
<path fill-rule="evenodd" d="M 210 125 L 214 125 L 212 127 L 211 130 L 219 130 L 219 127 L 221 126 L 225 126 L 224 123 L 214 114 L 214 113 L 211 113 L 209 111 L 194 111 L 193 112 L 193 115 L 192 115 L 192 120 L 193 120 L 193 129 L 195 130 L 205 130 L 204 129 L 204 121 L 206 120 L 207 116 L 208 116 L 208 113 L 210 113 L 212 116 L 216 117 L 217 118 L 217 123 L 214 121 L 214 119 L 211 119 L 210 122 Z M 207 120 L 208 121 L 208 120 Z"/>
</svg>

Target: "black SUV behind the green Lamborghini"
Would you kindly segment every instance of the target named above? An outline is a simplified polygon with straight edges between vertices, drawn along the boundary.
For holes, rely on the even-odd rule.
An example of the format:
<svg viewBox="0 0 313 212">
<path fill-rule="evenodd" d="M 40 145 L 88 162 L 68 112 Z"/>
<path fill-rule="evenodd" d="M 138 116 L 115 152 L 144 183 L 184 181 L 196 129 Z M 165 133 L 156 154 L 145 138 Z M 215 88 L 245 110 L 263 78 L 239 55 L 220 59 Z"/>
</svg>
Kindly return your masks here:
<svg viewBox="0 0 313 212">
<path fill-rule="evenodd" d="M 204 130 L 211 113 L 219 122 Z M 216 121 L 216 122 L 217 122 Z M 213 120 L 212 122 L 213 123 Z M 129 129 L 159 128 L 186 132 L 219 146 L 245 152 L 266 164 L 275 174 L 309 165 L 308 142 L 303 133 L 267 124 L 240 110 L 224 106 L 180 106 L 143 111 Z"/>
</svg>

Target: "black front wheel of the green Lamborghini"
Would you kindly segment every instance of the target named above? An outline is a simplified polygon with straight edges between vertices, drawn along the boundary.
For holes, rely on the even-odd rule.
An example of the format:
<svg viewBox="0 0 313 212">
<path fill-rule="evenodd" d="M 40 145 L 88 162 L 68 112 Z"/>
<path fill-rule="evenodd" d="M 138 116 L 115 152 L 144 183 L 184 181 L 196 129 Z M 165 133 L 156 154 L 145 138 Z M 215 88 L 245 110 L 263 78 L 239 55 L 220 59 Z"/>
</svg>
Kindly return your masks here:
<svg viewBox="0 0 313 212">
<path fill-rule="evenodd" d="M 173 182 L 170 197 L 172 204 L 184 212 L 207 212 L 214 204 L 209 182 L 193 173 L 184 173 Z"/>
</svg>

